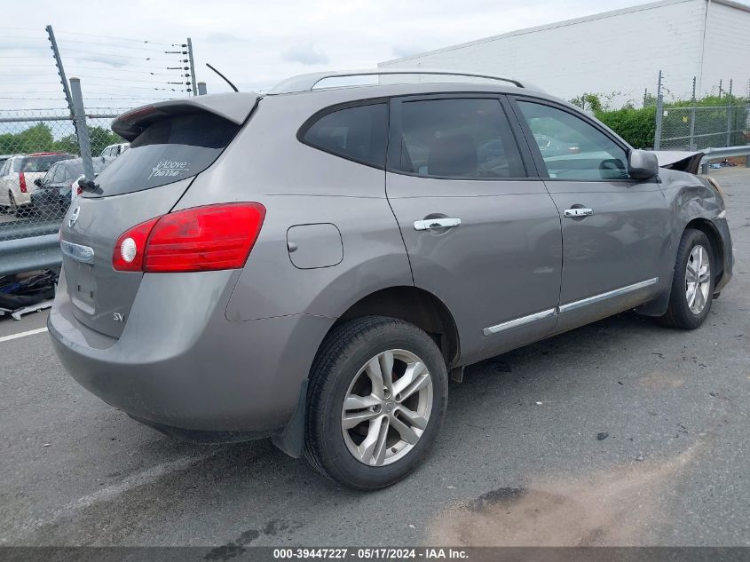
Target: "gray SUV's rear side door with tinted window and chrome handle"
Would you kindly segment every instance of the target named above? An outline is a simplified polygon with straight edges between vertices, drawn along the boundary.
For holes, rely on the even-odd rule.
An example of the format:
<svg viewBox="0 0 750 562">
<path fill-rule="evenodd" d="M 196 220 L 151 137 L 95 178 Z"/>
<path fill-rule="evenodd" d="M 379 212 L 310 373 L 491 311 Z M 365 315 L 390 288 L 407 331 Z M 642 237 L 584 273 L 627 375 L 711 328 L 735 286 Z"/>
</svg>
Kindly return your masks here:
<svg viewBox="0 0 750 562">
<path fill-rule="evenodd" d="M 500 96 L 391 100 L 386 191 L 414 284 L 454 316 L 462 362 L 548 335 L 560 218 Z"/>
</svg>

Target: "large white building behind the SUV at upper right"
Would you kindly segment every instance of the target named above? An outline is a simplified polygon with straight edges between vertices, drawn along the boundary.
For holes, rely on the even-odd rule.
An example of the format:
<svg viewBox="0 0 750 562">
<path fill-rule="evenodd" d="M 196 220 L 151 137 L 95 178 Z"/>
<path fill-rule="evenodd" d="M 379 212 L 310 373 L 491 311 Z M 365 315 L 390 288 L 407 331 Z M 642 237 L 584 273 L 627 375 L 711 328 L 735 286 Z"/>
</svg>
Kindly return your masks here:
<svg viewBox="0 0 750 562">
<path fill-rule="evenodd" d="M 577 20 L 389 60 L 379 67 L 471 70 L 526 79 L 559 98 L 611 96 L 643 102 L 664 71 L 665 98 L 750 94 L 750 6 L 730 0 L 661 0 Z"/>
</svg>

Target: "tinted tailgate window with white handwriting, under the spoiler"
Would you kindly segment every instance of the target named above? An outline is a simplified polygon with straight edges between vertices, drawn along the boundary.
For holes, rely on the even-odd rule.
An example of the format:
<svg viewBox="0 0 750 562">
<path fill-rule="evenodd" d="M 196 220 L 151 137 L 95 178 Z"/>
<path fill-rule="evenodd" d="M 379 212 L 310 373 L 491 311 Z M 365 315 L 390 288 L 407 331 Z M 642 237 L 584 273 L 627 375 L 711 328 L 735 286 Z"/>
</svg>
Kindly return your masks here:
<svg viewBox="0 0 750 562">
<path fill-rule="evenodd" d="M 240 125 L 209 113 L 178 115 L 154 123 L 99 174 L 100 194 L 129 194 L 191 178 L 224 151 Z"/>
</svg>

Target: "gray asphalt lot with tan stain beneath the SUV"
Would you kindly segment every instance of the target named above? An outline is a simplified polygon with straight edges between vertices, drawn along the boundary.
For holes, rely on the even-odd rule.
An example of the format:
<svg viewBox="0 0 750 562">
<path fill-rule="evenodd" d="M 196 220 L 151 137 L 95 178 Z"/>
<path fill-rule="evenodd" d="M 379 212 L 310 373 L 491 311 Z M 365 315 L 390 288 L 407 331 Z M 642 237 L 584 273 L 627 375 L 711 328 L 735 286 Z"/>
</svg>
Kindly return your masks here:
<svg viewBox="0 0 750 562">
<path fill-rule="evenodd" d="M 0 544 L 750 545 L 750 170 L 714 171 L 737 263 L 703 328 L 626 313 L 469 368 L 424 466 L 374 494 L 162 436 L 43 331 L 7 338 L 46 313 L 0 320 Z"/>
</svg>

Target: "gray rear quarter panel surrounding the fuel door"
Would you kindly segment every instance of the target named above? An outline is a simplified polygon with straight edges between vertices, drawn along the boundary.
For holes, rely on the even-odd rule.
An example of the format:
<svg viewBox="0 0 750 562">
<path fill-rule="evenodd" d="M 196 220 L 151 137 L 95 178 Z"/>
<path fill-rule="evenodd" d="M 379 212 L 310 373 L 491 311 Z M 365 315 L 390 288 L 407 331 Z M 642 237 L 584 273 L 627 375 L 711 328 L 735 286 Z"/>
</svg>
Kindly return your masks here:
<svg viewBox="0 0 750 562">
<path fill-rule="evenodd" d="M 288 314 L 336 318 L 360 297 L 412 285 L 406 249 L 385 196 L 385 172 L 304 145 L 296 133 L 316 111 L 351 93 L 269 96 L 216 164 L 176 209 L 252 201 L 263 228 L 226 308 L 230 321 Z M 299 269 L 287 247 L 291 226 L 328 223 L 341 232 L 343 259 Z"/>
</svg>

